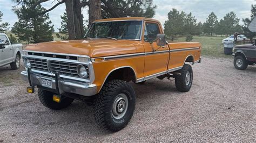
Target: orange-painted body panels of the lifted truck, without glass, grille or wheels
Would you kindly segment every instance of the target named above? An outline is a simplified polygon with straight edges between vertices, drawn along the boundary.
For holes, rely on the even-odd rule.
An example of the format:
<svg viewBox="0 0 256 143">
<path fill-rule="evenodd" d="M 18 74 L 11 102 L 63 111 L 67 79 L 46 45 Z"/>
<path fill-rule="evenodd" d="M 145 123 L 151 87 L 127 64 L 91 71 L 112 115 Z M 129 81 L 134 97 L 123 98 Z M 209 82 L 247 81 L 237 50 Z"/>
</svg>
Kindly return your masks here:
<svg viewBox="0 0 256 143">
<path fill-rule="evenodd" d="M 149 18 L 113 18 L 96 20 L 96 22 L 113 20 L 142 20 L 144 22 L 142 35 L 144 35 L 145 23 L 155 23 L 159 26 L 160 33 L 164 33 L 160 22 Z M 157 50 L 153 52 L 153 49 Z M 191 62 L 198 61 L 201 54 L 201 45 L 199 42 L 179 42 L 159 47 L 156 42 L 150 44 L 150 42 L 144 41 L 144 36 L 142 36 L 142 40 L 86 39 L 44 42 L 29 45 L 26 50 L 87 55 L 92 59 L 138 54 L 136 56 L 93 62 L 95 72 L 93 84 L 97 85 L 99 92 L 107 76 L 114 69 L 130 67 L 134 70 L 137 82 L 143 81 L 143 79 L 147 80 L 145 77 L 161 72 L 167 73 L 171 69 L 183 66 L 188 56 L 193 57 Z"/>
</svg>

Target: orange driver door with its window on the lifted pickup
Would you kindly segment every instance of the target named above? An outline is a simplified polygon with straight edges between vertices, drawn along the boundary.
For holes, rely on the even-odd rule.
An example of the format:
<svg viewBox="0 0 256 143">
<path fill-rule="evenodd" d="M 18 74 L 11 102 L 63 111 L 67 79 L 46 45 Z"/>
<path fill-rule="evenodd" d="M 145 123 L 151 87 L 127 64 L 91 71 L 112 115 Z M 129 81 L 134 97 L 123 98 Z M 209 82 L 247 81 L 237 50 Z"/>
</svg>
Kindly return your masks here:
<svg viewBox="0 0 256 143">
<path fill-rule="evenodd" d="M 167 62 L 169 61 L 168 45 L 159 47 L 157 42 L 157 34 L 161 34 L 161 27 L 156 22 L 145 22 L 143 45 L 145 49 L 145 80 L 163 74 L 167 70 Z M 151 43 L 152 42 L 152 43 Z"/>
</svg>

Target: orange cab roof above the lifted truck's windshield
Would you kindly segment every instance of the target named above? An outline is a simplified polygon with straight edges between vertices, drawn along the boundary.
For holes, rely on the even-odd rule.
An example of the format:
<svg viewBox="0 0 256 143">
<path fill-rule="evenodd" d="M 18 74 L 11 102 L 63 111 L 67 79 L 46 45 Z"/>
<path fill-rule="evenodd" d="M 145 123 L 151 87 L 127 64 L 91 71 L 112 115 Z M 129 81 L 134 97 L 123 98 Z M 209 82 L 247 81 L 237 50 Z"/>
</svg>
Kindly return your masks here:
<svg viewBox="0 0 256 143">
<path fill-rule="evenodd" d="M 147 20 L 147 21 L 151 21 L 151 22 L 157 22 L 160 23 L 158 20 L 156 19 L 152 19 L 152 18 L 145 18 L 145 17 L 120 17 L 120 18 L 107 18 L 107 19 L 99 19 L 99 20 L 95 20 L 95 22 L 93 23 L 98 23 L 98 22 L 113 22 L 113 21 L 123 21 L 123 20 Z"/>
</svg>

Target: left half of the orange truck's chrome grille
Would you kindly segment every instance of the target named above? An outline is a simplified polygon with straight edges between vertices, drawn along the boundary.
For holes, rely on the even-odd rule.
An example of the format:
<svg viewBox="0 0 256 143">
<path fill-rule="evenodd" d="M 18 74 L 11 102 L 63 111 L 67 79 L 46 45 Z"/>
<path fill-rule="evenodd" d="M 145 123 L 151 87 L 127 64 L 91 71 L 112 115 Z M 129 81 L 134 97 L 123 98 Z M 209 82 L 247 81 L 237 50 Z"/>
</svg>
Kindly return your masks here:
<svg viewBox="0 0 256 143">
<path fill-rule="evenodd" d="M 35 58 L 28 58 L 31 64 L 32 69 L 42 70 L 42 71 L 49 71 L 47 60 L 44 59 L 35 59 Z"/>
</svg>

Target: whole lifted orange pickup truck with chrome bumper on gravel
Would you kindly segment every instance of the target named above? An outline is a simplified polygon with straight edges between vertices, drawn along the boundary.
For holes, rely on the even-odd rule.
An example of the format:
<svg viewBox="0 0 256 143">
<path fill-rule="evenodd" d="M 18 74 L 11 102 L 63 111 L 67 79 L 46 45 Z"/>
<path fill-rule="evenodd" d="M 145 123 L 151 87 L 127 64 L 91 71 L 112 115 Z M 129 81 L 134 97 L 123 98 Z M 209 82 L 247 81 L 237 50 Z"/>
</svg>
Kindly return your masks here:
<svg viewBox="0 0 256 143">
<path fill-rule="evenodd" d="M 192 86 L 193 71 L 186 62 L 200 62 L 199 42 L 166 42 L 161 24 L 149 18 L 96 20 L 82 40 L 29 45 L 23 51 L 29 81 L 38 88 L 41 103 L 59 110 L 74 99 L 92 101 L 99 125 L 119 131 L 135 108 L 130 81 L 143 84 L 157 77 L 175 78 L 178 91 Z"/>
</svg>

